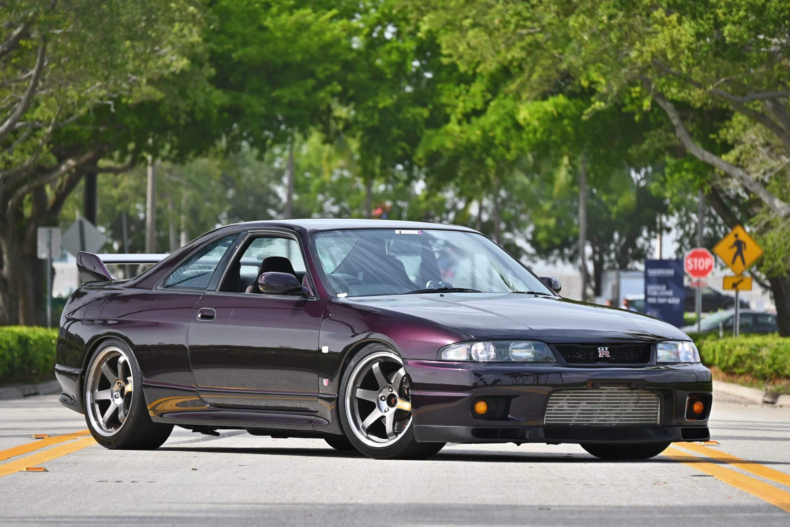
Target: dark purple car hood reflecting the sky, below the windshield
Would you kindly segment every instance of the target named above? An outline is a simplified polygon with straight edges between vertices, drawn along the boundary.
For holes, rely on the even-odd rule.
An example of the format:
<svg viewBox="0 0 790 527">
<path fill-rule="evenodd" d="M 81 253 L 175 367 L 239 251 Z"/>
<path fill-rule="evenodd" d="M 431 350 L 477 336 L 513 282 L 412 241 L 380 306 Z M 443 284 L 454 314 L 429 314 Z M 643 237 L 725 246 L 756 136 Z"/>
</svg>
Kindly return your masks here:
<svg viewBox="0 0 790 527">
<path fill-rule="evenodd" d="M 550 343 L 688 340 L 657 318 L 559 297 L 445 293 L 354 297 L 349 302 L 431 320 L 477 340 L 530 338 Z"/>
</svg>

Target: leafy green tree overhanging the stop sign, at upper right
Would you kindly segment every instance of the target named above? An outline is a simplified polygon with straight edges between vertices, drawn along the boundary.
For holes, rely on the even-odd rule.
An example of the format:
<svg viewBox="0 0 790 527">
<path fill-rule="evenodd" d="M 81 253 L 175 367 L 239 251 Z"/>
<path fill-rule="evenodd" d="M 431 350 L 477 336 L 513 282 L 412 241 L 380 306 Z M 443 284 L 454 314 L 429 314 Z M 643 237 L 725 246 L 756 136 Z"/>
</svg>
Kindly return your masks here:
<svg viewBox="0 0 790 527">
<path fill-rule="evenodd" d="M 762 211 L 749 217 L 770 246 L 766 255 L 779 256 L 786 247 L 786 235 L 769 233 L 788 232 L 790 221 L 783 161 L 790 152 L 788 2 L 411 0 L 409 5 L 423 28 L 440 31 L 442 50 L 462 69 L 508 67 L 515 72 L 513 89 L 525 98 L 540 98 L 561 83 L 592 90 L 591 110 L 611 104 L 636 112 L 660 107 L 665 118 L 660 126 L 672 130 L 680 155 L 709 167 L 700 188 L 734 186 L 757 198 Z M 720 125 L 713 140 L 706 126 L 712 114 Z M 754 137 L 768 147 L 759 156 L 767 164 L 742 155 Z M 790 278 L 782 264 L 771 262 L 769 269 L 780 330 L 790 335 Z"/>
</svg>

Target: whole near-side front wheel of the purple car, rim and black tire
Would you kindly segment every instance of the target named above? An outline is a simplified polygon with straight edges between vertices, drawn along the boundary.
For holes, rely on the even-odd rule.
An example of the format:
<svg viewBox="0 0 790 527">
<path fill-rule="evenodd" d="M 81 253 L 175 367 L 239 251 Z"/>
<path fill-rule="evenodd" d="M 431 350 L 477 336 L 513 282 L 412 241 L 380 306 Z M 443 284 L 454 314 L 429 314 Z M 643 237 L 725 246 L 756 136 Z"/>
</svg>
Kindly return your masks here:
<svg viewBox="0 0 790 527">
<path fill-rule="evenodd" d="M 445 443 L 416 442 L 403 360 L 371 344 L 348 364 L 340 383 L 340 421 L 356 450 L 378 459 L 424 459 Z"/>
</svg>

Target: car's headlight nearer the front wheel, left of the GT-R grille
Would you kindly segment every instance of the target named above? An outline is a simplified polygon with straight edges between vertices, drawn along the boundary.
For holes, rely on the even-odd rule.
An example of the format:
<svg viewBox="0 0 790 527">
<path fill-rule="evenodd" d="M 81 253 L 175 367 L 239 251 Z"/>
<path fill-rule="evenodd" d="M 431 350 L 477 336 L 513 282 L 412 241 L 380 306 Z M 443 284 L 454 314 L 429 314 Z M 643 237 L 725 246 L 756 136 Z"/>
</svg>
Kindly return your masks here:
<svg viewBox="0 0 790 527">
<path fill-rule="evenodd" d="M 439 359 L 472 362 L 555 363 L 554 353 L 538 341 L 478 341 L 450 344 L 439 350 Z"/>
</svg>

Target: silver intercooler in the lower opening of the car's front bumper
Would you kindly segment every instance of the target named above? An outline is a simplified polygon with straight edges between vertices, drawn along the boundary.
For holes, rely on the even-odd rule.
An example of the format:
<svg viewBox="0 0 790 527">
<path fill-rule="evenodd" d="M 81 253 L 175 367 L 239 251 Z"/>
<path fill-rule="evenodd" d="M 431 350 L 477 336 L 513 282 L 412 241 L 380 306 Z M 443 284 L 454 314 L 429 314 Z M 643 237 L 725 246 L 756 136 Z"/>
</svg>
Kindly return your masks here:
<svg viewBox="0 0 790 527">
<path fill-rule="evenodd" d="M 626 388 L 560 390 L 551 394 L 544 424 L 658 424 L 658 393 Z"/>
</svg>

